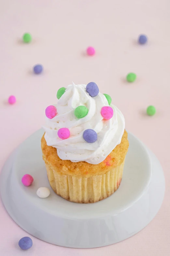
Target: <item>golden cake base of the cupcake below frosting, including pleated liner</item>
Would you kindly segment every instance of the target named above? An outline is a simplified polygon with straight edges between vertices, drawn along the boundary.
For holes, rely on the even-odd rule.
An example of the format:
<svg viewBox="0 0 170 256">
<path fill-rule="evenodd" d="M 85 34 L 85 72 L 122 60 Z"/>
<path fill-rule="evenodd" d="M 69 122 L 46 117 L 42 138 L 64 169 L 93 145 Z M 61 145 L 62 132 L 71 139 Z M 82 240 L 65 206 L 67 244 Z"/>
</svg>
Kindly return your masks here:
<svg viewBox="0 0 170 256">
<path fill-rule="evenodd" d="M 43 160 L 54 192 L 76 203 L 95 203 L 113 194 L 120 186 L 123 166 L 129 147 L 124 130 L 121 142 L 99 164 L 62 160 L 56 148 L 48 146 L 41 138 Z"/>
</svg>

